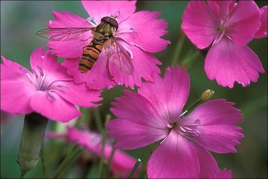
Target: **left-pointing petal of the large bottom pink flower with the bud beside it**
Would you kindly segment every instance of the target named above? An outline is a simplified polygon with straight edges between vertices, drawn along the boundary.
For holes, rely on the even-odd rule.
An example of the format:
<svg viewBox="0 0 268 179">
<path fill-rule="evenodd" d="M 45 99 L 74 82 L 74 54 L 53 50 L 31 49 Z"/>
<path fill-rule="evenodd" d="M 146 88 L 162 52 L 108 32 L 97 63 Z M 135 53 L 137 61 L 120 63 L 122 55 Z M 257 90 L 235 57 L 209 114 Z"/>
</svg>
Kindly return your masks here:
<svg viewBox="0 0 268 179">
<path fill-rule="evenodd" d="M 111 111 L 118 119 L 107 124 L 109 137 L 117 139 L 114 147 L 136 149 L 166 137 L 167 123 L 153 105 L 140 94 L 128 90 L 124 93 L 126 96 L 112 103 Z"/>
</svg>

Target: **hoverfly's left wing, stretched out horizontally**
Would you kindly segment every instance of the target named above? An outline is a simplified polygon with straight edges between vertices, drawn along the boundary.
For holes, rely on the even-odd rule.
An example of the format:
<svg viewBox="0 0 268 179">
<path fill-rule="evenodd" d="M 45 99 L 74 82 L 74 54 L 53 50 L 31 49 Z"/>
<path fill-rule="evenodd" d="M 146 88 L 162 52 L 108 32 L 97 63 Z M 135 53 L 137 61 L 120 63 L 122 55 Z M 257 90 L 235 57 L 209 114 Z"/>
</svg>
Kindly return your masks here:
<svg viewBox="0 0 268 179">
<path fill-rule="evenodd" d="M 47 28 L 39 30 L 36 35 L 47 40 L 67 41 L 81 38 L 84 32 L 93 29 L 94 27 Z"/>
</svg>

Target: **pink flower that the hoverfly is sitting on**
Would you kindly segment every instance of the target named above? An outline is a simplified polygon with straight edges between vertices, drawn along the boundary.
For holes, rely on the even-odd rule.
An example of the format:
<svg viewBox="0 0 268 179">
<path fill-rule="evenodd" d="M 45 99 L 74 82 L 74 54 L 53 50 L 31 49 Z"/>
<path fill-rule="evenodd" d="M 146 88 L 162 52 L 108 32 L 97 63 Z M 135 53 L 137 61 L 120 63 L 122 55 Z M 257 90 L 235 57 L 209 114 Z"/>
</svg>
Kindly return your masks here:
<svg viewBox="0 0 268 179">
<path fill-rule="evenodd" d="M 56 20 L 51 20 L 47 26 L 49 28 L 59 27 L 93 27 L 100 23 L 102 17 L 119 16 L 118 30 L 115 37 L 119 43 L 128 49 L 131 62 L 134 67 L 132 75 L 126 74 L 109 64 L 107 68 L 107 56 L 105 49 L 101 51 L 96 63 L 87 73 L 81 73 L 77 67 L 83 54 L 83 47 L 87 46 L 92 36 L 90 31 L 84 32 L 78 39 L 67 41 L 49 41 L 48 46 L 52 52 L 67 60 L 62 64 L 66 67 L 67 73 L 74 77 L 76 83 L 86 82 L 89 88 L 102 89 L 112 88 L 116 84 L 134 88 L 134 85 L 141 85 L 141 77 L 146 81 L 153 82 L 152 72 L 160 74 L 160 69 L 156 65 L 161 65 L 151 53 L 162 51 L 170 44 L 168 40 L 160 38 L 167 33 L 167 23 L 164 19 L 156 19 L 160 12 L 139 11 L 135 12 L 136 1 L 83 1 L 82 4 L 90 17 L 84 19 L 69 12 L 55 12 Z M 135 12 L 135 13 L 134 13 Z M 88 40 L 86 40 L 88 39 Z M 72 59 L 70 59 L 72 58 Z"/>
</svg>

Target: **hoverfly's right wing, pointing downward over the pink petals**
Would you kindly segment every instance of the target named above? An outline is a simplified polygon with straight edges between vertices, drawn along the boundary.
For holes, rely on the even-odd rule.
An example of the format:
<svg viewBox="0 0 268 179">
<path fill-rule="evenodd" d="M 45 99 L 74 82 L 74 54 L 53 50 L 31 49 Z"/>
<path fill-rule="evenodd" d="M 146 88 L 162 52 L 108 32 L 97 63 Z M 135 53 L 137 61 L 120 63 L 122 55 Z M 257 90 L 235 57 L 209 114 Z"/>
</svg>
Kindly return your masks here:
<svg viewBox="0 0 268 179">
<path fill-rule="evenodd" d="M 109 61 L 109 67 L 113 65 L 118 70 L 132 75 L 134 71 L 131 62 L 131 53 L 128 52 L 127 47 L 121 45 L 115 37 L 112 37 L 109 42 L 105 44 L 105 53 Z"/>
</svg>

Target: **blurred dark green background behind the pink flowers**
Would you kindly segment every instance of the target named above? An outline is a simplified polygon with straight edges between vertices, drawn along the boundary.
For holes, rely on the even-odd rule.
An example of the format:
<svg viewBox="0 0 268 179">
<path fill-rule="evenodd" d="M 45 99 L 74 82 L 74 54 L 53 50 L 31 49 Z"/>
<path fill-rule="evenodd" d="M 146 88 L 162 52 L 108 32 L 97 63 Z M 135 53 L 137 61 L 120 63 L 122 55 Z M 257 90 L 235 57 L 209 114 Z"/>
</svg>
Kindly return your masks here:
<svg viewBox="0 0 268 179">
<path fill-rule="evenodd" d="M 166 50 L 154 54 L 163 65 L 160 66 L 161 75 L 165 69 L 171 65 L 176 44 L 180 39 L 181 16 L 187 6 L 188 1 L 137 1 L 136 11 L 149 10 L 160 11 L 160 18 L 168 22 L 169 33 L 163 38 L 170 40 L 171 44 Z M 257 1 L 259 7 L 267 5 L 267 1 Z M 93 7 L 94 8 L 94 7 Z M 35 33 L 46 28 L 46 23 L 54 19 L 52 10 L 68 11 L 87 18 L 88 14 L 80 1 L 0 1 L 0 55 L 15 61 L 27 68 L 29 57 L 32 51 L 46 44 L 46 41 L 35 36 Z M 249 43 L 249 47 L 259 56 L 265 71 L 267 72 L 267 38 L 255 39 Z M 185 38 L 183 49 L 178 60 L 181 64 L 186 54 L 194 53 L 197 49 Z M 203 65 L 203 53 L 196 53 L 197 57 L 191 61 L 188 73 L 191 78 L 190 96 L 186 106 L 199 98 L 205 89 L 213 89 L 215 94 L 212 98 L 226 98 L 228 101 L 235 102 L 235 107 L 242 110 L 244 119 L 238 123 L 243 128 L 245 139 L 241 140 L 241 145 L 237 146 L 236 154 L 215 154 L 219 168 L 232 170 L 233 178 L 267 178 L 268 159 L 267 159 L 267 73 L 260 74 L 257 83 L 251 83 L 247 88 L 235 84 L 233 89 L 223 88 L 217 85 L 215 81 L 207 79 Z M 1 61 L 2 63 L 2 61 Z M 114 97 L 122 95 L 122 89 L 125 87 L 115 87 L 114 89 L 105 89 L 102 93 L 103 105 L 99 107 L 100 115 L 104 118 L 107 113 L 111 113 L 110 102 Z M 136 90 L 136 89 L 135 89 Z M 114 117 L 114 116 L 113 116 Z M 1 113 L 1 152 L 0 152 L 0 177 L 17 178 L 19 177 L 19 167 L 15 160 L 19 148 L 20 134 L 23 126 L 23 116 L 10 116 Z M 55 122 L 49 124 L 48 130 L 55 128 Z M 49 163 L 53 154 L 59 151 L 59 146 L 54 142 L 48 142 L 46 139 L 46 148 Z M 63 143 L 61 143 L 63 144 Z M 64 144 L 63 144 L 64 145 Z M 53 146 L 56 146 L 54 149 Z M 54 152 L 53 152 L 54 150 Z M 142 153 L 148 148 L 142 148 L 134 151 L 127 151 L 136 159 L 142 157 Z M 52 160 L 53 161 L 53 160 Z M 43 178 L 42 166 L 40 164 L 29 172 L 26 178 Z M 56 164 L 48 166 L 53 168 Z M 88 169 L 88 168 L 87 168 Z M 86 170 L 87 170 L 86 169 Z M 69 172 L 68 177 L 78 178 L 78 168 L 74 167 Z M 53 169 L 50 172 L 53 172 Z M 53 175 L 53 174 L 50 174 Z M 92 175 L 94 176 L 94 175 Z"/>
</svg>

